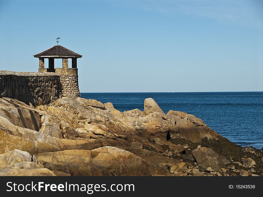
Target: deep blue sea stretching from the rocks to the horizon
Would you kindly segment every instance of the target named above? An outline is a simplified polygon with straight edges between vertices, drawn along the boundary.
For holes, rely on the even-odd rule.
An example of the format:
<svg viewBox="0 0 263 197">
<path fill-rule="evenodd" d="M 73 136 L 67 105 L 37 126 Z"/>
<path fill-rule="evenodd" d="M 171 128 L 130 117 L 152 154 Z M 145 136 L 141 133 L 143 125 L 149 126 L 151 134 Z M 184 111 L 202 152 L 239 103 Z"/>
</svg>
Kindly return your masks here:
<svg viewBox="0 0 263 197">
<path fill-rule="evenodd" d="M 164 113 L 186 112 L 202 119 L 208 127 L 240 146 L 263 147 L 263 92 L 138 92 L 81 93 L 81 97 L 115 109 L 140 109 L 153 98 Z"/>
</svg>

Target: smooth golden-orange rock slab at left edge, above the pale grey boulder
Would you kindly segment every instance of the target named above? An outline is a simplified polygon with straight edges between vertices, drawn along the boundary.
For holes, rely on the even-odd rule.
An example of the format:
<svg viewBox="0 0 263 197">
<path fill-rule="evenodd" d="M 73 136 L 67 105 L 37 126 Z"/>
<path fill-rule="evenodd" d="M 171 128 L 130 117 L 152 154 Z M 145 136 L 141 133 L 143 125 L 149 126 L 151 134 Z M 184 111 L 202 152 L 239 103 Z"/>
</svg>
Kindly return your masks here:
<svg viewBox="0 0 263 197">
<path fill-rule="evenodd" d="M 0 129 L 0 154 L 14 149 L 20 149 L 33 155 L 35 152 L 35 145 L 30 140 L 7 134 Z"/>
</svg>

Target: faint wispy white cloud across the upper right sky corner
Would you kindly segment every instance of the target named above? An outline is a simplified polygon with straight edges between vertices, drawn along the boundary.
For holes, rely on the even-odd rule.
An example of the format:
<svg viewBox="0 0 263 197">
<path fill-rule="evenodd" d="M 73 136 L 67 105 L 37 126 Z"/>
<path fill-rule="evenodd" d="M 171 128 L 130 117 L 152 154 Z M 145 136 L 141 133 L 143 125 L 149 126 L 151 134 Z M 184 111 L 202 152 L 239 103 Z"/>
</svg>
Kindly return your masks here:
<svg viewBox="0 0 263 197">
<path fill-rule="evenodd" d="M 102 0 L 130 9 L 142 9 L 164 14 L 182 14 L 214 19 L 220 23 L 263 26 L 261 0 Z"/>
</svg>

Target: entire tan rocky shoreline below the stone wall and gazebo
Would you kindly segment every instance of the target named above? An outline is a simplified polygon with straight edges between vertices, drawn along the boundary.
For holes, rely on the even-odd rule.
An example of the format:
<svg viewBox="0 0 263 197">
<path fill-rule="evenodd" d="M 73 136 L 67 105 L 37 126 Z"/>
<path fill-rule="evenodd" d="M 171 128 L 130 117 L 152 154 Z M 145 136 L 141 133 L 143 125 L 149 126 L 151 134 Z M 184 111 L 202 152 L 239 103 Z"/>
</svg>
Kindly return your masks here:
<svg viewBox="0 0 263 197">
<path fill-rule="evenodd" d="M 166 114 L 62 97 L 34 107 L 0 98 L 1 176 L 262 176 L 259 149 L 241 147 L 184 112 Z"/>
</svg>

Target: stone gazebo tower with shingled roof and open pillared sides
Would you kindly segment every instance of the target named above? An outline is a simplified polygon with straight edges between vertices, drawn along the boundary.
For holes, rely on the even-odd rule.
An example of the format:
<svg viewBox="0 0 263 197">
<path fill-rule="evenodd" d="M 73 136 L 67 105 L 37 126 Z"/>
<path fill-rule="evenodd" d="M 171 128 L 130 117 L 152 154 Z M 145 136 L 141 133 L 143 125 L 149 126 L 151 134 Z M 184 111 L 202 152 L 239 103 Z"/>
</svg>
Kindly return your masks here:
<svg viewBox="0 0 263 197">
<path fill-rule="evenodd" d="M 80 97 L 77 58 L 81 58 L 82 55 L 61 45 L 55 45 L 34 57 L 39 58 L 39 72 L 55 72 L 60 76 L 60 96 Z M 45 58 L 48 59 L 48 68 L 45 68 Z M 62 68 L 54 68 L 55 58 L 62 59 Z M 68 68 L 68 58 L 72 59 L 72 68 Z"/>
</svg>

